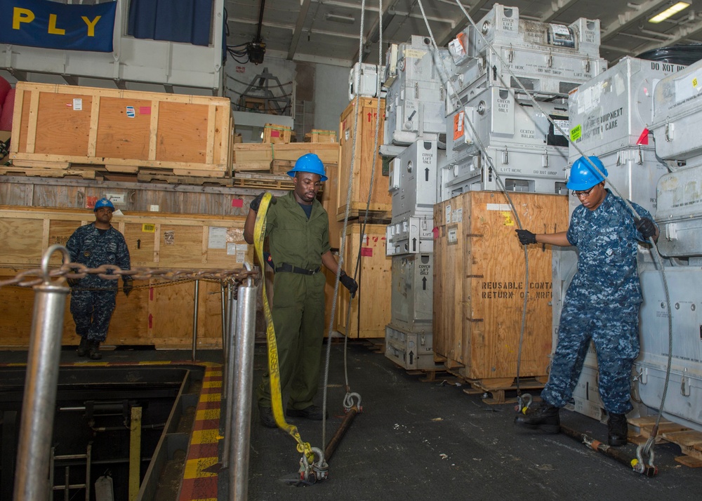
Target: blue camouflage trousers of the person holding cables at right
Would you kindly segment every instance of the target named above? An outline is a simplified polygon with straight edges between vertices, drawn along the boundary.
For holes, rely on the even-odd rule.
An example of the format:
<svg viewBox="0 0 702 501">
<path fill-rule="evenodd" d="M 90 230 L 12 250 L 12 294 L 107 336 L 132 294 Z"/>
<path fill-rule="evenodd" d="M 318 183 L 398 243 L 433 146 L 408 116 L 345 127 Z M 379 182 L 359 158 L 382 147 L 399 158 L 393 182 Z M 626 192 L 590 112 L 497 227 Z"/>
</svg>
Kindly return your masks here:
<svg viewBox="0 0 702 501">
<path fill-rule="evenodd" d="M 636 303 L 593 308 L 589 300 L 566 300 L 551 373 L 541 398 L 556 407 L 571 400 L 592 340 L 604 408 L 608 413 L 628 413 L 633 408 L 631 369 L 639 355 L 639 306 Z"/>
</svg>

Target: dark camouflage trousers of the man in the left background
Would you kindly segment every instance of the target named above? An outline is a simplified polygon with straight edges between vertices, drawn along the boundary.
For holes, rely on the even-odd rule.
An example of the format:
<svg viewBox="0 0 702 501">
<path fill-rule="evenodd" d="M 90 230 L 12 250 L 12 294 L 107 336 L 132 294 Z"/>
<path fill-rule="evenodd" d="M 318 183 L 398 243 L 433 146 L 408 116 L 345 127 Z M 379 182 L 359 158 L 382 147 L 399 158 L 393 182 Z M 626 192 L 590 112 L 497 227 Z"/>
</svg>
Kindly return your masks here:
<svg viewBox="0 0 702 501">
<path fill-rule="evenodd" d="M 81 290 L 71 292 L 71 314 L 76 334 L 82 338 L 103 342 L 114 311 L 116 290 Z"/>
</svg>

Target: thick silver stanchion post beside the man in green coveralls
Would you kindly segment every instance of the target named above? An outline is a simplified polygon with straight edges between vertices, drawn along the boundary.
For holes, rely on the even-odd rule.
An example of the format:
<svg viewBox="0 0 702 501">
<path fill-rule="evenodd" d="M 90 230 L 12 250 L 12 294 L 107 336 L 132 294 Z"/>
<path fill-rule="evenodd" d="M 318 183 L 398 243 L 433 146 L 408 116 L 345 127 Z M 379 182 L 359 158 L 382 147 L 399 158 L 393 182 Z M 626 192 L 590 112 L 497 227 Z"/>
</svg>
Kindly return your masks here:
<svg viewBox="0 0 702 501">
<path fill-rule="evenodd" d="M 253 343 L 256 340 L 256 287 L 249 278 L 239 287 L 237 307 L 237 353 L 233 392 L 234 429 L 230 442 L 229 499 L 246 501 L 249 493 L 249 440 L 253 393 Z"/>
</svg>

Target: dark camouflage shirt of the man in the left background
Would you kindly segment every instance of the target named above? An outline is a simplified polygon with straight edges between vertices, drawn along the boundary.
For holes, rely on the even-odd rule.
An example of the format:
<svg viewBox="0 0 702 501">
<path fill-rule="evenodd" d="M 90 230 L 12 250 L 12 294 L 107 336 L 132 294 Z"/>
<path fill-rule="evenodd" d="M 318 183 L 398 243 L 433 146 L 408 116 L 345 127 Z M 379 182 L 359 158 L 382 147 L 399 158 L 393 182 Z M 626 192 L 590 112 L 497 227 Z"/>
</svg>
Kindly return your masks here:
<svg viewBox="0 0 702 501">
<path fill-rule="evenodd" d="M 117 265 L 121 269 L 130 269 L 129 250 L 124 236 L 114 227 L 101 232 L 95 223 L 79 227 L 66 242 L 71 261 L 88 268 L 101 265 Z M 117 289 L 118 280 L 105 280 L 97 275 L 88 274 L 74 288 L 113 288 Z"/>
</svg>

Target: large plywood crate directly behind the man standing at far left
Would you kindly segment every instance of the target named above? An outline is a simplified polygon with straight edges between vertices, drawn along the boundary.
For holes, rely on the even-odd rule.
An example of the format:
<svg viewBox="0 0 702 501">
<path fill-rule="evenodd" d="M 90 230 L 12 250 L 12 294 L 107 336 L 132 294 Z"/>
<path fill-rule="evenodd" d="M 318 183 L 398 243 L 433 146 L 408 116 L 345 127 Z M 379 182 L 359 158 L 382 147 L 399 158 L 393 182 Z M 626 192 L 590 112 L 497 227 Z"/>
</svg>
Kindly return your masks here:
<svg viewBox="0 0 702 501">
<path fill-rule="evenodd" d="M 77 227 L 94 220 L 85 210 L 0 206 L 0 280 L 39 267 L 48 246 L 65 244 Z M 128 213 L 115 215 L 112 225 L 124 234 L 133 268 L 241 269 L 244 261 L 253 262 L 253 249 L 244 242 L 243 217 Z M 55 253 L 51 263 L 59 262 L 60 254 Z M 128 298 L 117 294 L 106 344 L 191 347 L 194 281 L 154 276 L 134 286 Z M 31 288 L 0 288 L 0 347 L 29 344 L 33 302 Z M 62 344 L 76 345 L 68 302 Z M 221 347 L 219 282 L 199 281 L 198 309 L 197 346 Z"/>
</svg>

